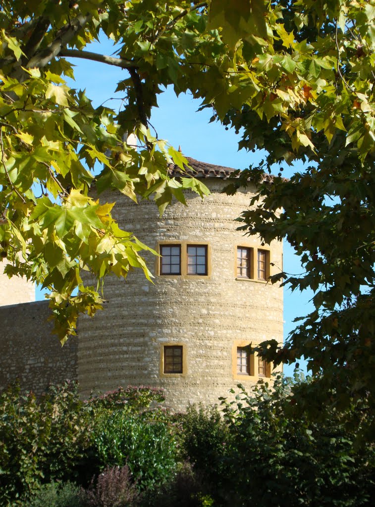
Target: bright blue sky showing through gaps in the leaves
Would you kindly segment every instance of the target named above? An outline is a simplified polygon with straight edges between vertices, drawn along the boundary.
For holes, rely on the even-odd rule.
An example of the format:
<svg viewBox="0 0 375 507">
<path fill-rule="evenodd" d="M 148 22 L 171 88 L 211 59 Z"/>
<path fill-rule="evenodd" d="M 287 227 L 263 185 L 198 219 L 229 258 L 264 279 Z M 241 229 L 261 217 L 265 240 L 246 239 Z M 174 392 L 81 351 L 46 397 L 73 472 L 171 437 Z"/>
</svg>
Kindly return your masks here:
<svg viewBox="0 0 375 507">
<path fill-rule="evenodd" d="M 93 43 L 90 51 L 102 54 L 114 52 L 109 43 Z M 76 83 L 70 86 L 86 89 L 87 96 L 95 106 L 106 102 L 106 105 L 118 110 L 121 107 L 122 93 L 114 93 L 118 81 L 124 79 L 125 71 L 103 63 L 92 62 L 83 59 L 72 58 L 75 67 Z M 236 135 L 233 129 L 226 131 L 219 123 L 210 123 L 211 113 L 209 110 L 196 112 L 200 102 L 191 95 L 181 94 L 176 97 L 173 89 L 168 89 L 158 98 L 158 107 L 154 108 L 151 123 L 156 129 L 159 138 L 167 139 L 175 148 L 181 146 L 184 155 L 203 162 L 217 165 L 245 169 L 250 164 L 260 161 L 264 152 L 252 153 L 245 150 L 238 151 L 237 143 L 240 135 Z M 296 167 L 285 169 L 283 176 L 289 177 Z M 297 166 L 301 170 L 301 166 Z M 284 270 L 288 273 L 299 273 L 302 268 L 298 258 L 292 249 L 284 243 Z M 43 299 L 41 291 L 37 290 L 37 299 Z M 284 339 L 294 328 L 293 319 L 306 315 L 312 308 L 310 300 L 312 293 L 291 293 L 290 289 L 284 289 Z M 304 363 L 300 363 L 303 368 Z M 284 367 L 288 375 L 293 373 L 292 367 Z"/>
</svg>

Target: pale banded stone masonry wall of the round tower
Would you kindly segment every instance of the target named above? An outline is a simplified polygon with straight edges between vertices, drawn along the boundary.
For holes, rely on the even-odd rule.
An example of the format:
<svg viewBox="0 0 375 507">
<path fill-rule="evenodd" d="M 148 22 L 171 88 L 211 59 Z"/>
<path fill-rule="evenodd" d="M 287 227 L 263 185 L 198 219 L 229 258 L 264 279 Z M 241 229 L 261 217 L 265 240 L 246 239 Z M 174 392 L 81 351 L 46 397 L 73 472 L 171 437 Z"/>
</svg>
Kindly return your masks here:
<svg viewBox="0 0 375 507">
<path fill-rule="evenodd" d="M 87 395 L 119 385 L 163 387 L 167 405 L 177 410 L 191 402 L 216 403 L 238 382 L 258 380 L 235 375 L 236 346 L 283 339 L 283 291 L 263 281 L 235 277 L 237 246 L 262 247 L 256 237 L 236 231 L 234 219 L 249 205 L 251 193 L 221 194 L 224 182 L 204 180 L 212 195 L 202 201 L 186 194 L 188 206 L 175 203 L 162 218 L 150 201 L 137 206 L 117 197 L 114 215 L 121 226 L 147 245 L 198 242 L 209 245 L 209 276 L 155 276 L 139 270 L 127 279 L 106 280 L 106 310 L 79 323 L 78 378 Z M 115 200 L 114 194 L 103 199 Z M 256 251 L 256 250 L 255 250 Z M 282 269 L 282 244 L 270 246 L 270 273 Z M 158 260 L 145 256 L 157 273 Z M 164 344 L 184 346 L 183 374 L 163 374 Z"/>
</svg>

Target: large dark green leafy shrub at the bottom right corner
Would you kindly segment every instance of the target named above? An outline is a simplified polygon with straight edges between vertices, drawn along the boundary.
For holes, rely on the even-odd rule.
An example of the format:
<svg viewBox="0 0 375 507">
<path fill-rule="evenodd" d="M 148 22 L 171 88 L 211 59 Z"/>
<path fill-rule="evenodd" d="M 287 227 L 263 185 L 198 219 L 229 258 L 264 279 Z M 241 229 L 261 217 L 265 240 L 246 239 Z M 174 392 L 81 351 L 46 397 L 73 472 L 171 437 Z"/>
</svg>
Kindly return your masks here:
<svg viewBox="0 0 375 507">
<path fill-rule="evenodd" d="M 375 450 L 356 448 L 356 427 L 332 410 L 321 421 L 290 411 L 298 401 L 282 377 L 224 403 L 233 436 L 228 454 L 231 505 L 360 507 L 371 504 Z M 353 404 L 351 410 L 356 410 Z"/>
</svg>

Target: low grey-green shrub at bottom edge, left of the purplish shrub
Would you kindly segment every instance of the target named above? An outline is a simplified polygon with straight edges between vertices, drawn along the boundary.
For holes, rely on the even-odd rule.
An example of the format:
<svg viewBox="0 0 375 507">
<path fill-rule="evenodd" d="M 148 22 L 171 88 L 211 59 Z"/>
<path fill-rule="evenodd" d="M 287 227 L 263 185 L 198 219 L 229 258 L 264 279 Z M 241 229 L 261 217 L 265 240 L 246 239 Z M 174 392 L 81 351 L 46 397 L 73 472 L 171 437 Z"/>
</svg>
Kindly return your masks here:
<svg viewBox="0 0 375 507">
<path fill-rule="evenodd" d="M 44 484 L 25 507 L 84 507 L 82 488 L 71 482 Z"/>
</svg>

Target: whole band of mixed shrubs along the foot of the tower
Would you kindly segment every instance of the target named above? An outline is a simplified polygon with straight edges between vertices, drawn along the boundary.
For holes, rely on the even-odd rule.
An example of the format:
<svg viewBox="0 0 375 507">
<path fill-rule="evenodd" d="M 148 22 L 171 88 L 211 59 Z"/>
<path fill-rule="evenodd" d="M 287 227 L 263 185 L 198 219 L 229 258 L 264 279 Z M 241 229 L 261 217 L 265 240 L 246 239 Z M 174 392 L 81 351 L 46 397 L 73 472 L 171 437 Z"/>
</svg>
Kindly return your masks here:
<svg viewBox="0 0 375 507">
<path fill-rule="evenodd" d="M 280 376 L 250 393 L 239 385 L 221 411 L 178 415 L 146 387 L 87 402 L 72 383 L 39 401 L 9 388 L 0 395 L 0 506 L 371 505 L 374 448 L 342 411 L 309 419 L 296 386 L 309 382 Z M 358 403 L 350 410 L 361 413 Z"/>
</svg>

